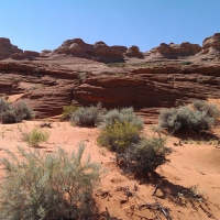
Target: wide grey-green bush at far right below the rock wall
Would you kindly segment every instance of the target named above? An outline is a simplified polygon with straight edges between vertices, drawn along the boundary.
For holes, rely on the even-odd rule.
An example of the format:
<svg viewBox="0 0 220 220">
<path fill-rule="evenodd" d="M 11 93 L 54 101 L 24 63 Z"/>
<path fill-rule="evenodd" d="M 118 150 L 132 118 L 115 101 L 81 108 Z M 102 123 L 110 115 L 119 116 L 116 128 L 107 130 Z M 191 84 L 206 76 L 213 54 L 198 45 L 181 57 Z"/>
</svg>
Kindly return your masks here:
<svg viewBox="0 0 220 220">
<path fill-rule="evenodd" d="M 158 118 L 158 127 L 172 132 L 179 130 L 193 130 L 200 132 L 211 129 L 219 117 L 219 110 L 213 105 L 195 101 L 193 108 L 162 109 Z"/>
</svg>

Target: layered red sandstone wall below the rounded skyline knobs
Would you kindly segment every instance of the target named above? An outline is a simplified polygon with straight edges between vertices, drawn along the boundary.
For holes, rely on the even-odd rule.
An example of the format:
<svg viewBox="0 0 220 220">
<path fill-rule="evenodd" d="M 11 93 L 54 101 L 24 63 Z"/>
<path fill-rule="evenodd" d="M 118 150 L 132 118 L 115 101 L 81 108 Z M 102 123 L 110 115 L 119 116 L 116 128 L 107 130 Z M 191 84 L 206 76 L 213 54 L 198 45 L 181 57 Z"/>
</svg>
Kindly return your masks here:
<svg viewBox="0 0 220 220">
<path fill-rule="evenodd" d="M 133 106 L 146 122 L 155 122 L 161 108 L 220 96 L 218 63 L 164 63 L 153 68 L 142 64 L 127 64 L 121 68 L 100 64 L 96 73 L 89 70 L 92 69 L 89 64 L 82 78 L 78 66 L 66 66 L 69 65 L 2 62 L 0 92 L 24 94 L 22 98 L 29 100 L 38 118 L 61 114 L 63 107 L 70 103 L 89 106 L 102 102 L 107 108 Z"/>
</svg>

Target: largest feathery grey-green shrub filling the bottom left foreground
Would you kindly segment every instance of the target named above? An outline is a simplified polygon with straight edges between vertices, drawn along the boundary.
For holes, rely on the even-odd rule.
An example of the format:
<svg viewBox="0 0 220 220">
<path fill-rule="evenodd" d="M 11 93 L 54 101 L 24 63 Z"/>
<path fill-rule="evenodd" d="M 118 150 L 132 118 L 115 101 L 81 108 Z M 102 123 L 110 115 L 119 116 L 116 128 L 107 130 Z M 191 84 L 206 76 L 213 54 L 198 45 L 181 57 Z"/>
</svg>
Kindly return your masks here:
<svg viewBox="0 0 220 220">
<path fill-rule="evenodd" d="M 1 160 L 6 176 L 0 182 L 0 219 L 92 219 L 92 199 L 100 166 L 82 161 L 85 145 L 68 154 L 18 147 Z M 20 160 L 19 157 L 22 157 Z"/>
</svg>

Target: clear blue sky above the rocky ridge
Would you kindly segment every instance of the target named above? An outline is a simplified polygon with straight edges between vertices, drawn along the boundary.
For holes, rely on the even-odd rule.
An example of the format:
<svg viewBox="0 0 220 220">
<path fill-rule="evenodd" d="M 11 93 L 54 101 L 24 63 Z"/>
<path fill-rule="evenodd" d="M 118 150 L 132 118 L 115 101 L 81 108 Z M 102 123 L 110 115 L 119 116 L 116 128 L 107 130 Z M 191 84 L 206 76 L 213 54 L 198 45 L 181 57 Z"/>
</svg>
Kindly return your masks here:
<svg viewBox="0 0 220 220">
<path fill-rule="evenodd" d="M 0 37 L 22 50 L 54 50 L 80 37 L 94 44 L 202 44 L 220 32 L 220 0 L 0 0 Z"/>
</svg>

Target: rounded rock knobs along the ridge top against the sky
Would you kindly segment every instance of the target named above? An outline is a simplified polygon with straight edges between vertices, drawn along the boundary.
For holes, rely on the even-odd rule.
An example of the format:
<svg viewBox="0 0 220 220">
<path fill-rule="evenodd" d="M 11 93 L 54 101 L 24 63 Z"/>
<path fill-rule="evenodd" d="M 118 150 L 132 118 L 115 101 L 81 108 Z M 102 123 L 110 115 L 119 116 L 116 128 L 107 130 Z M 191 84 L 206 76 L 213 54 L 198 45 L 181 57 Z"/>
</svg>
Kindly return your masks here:
<svg viewBox="0 0 220 220">
<path fill-rule="evenodd" d="M 146 59 L 147 62 L 160 62 L 166 59 L 178 59 L 194 57 L 196 59 L 219 59 L 220 55 L 220 33 L 216 33 L 204 40 L 202 46 L 184 42 L 182 44 L 162 43 L 160 46 L 145 53 L 140 52 L 138 46 L 108 46 L 99 41 L 95 44 L 87 44 L 81 38 L 65 41 L 54 51 L 44 50 L 42 53 L 33 51 L 22 51 L 11 44 L 9 38 L 0 37 L 0 59 L 57 59 L 61 55 L 88 58 L 96 62 L 117 63 L 124 62 L 127 57 Z M 208 55 L 208 57 L 207 57 Z"/>
</svg>

